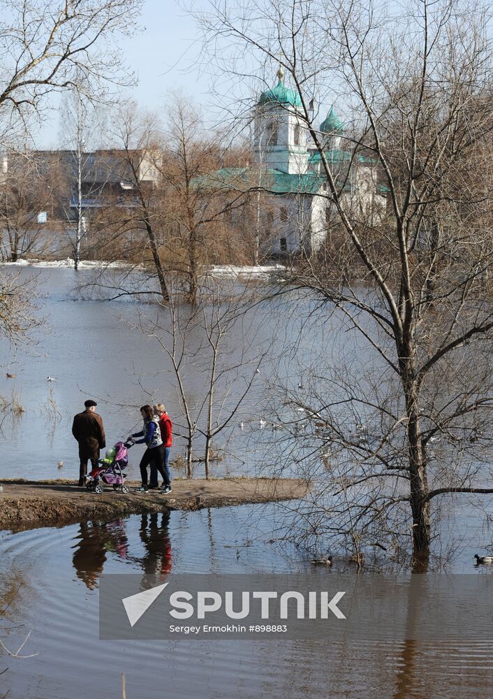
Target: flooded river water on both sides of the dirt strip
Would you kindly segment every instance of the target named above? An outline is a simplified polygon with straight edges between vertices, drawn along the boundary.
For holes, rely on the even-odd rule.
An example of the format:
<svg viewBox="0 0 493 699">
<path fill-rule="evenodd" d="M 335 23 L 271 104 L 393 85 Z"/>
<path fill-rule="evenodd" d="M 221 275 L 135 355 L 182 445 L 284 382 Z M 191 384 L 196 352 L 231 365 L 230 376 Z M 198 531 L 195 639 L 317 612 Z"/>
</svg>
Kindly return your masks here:
<svg viewBox="0 0 493 699">
<path fill-rule="evenodd" d="M 75 479 L 78 459 L 71 421 L 88 396 L 98 401 L 109 444 L 140 425 L 139 405 L 162 401 L 175 421 L 172 458 L 183 454 L 184 441 L 179 437 L 183 419 L 170 363 L 152 340 L 131 327 L 137 313 L 134 303 L 82 300 L 73 291 L 80 275 L 69 269 L 37 273 L 43 294 L 40 312 L 47 318 L 49 333 L 39 345 L 7 359 L 8 348 L 1 348 L 0 394 L 7 400 L 15 398 L 24 412 L 3 414 L 0 481 L 15 476 Z M 272 342 L 275 326 L 277 349 L 271 352 L 272 363 L 261 367 L 235 419 L 217 438 L 215 446 L 225 457 L 214 462 L 214 475 L 265 470 L 266 454 L 275 468 L 279 438 L 270 429 L 265 387 L 273 364 L 277 362 L 277 370 L 281 366 L 276 358 L 286 336 L 293 338 L 300 331 L 295 319 L 282 313 L 275 304 L 263 306 L 249 326 L 258 345 Z M 306 344 L 307 353 L 317 351 L 322 333 L 337 352 L 336 338 L 330 335 L 332 322 L 329 319 L 323 329 L 304 330 L 300 343 Z M 244 326 L 239 326 L 233 338 L 237 352 L 242 351 L 242 332 Z M 350 339 L 345 333 L 341 343 Z M 8 379 L 7 372 L 15 379 Z M 47 381 L 48 376 L 54 381 Z M 242 377 L 235 380 L 241 383 Z M 191 404 L 200 404 L 204 382 L 200 363 L 191 367 L 187 381 Z M 297 370 L 290 381 L 293 387 L 300 382 Z M 237 385 L 233 381 L 223 389 L 219 399 L 227 406 Z M 129 454 L 131 477 L 138 476 L 141 452 L 141 447 L 134 447 Z M 202 468 L 196 465 L 196 475 Z M 175 470 L 174 475 L 183 474 Z M 493 572 L 473 566 L 473 554 L 492 545 L 492 533 L 483 527 L 484 515 L 491 512 L 489 501 L 483 505 L 485 511 L 478 511 L 466 498 L 444 500 L 434 553 L 455 551 L 448 570 L 471 575 Z M 0 609 L 7 607 L 0 615 L 0 640 L 8 649 L 17 649 L 32 629 L 20 655 L 34 654 L 12 658 L 0 649 L 0 697 L 10 691 L 9 699 L 117 698 L 122 696 L 122 672 L 128 699 L 491 696 L 493 645 L 486 641 L 437 645 L 334 644 L 330 637 L 324 642 L 98 639 L 98 580 L 103 572 L 307 570 L 307 552 L 279 541 L 283 517 L 288 518 L 284 505 L 249 505 L 0 532 Z M 334 553 L 334 568 L 324 568 L 321 575 L 347 572 L 343 554 Z"/>
</svg>

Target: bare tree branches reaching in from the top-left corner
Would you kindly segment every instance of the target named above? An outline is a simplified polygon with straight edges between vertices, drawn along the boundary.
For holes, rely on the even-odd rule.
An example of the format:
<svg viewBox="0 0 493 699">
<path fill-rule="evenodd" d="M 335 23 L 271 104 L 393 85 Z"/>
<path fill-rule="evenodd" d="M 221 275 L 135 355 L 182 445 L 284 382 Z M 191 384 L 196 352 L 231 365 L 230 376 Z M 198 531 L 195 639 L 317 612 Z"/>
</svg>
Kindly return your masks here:
<svg viewBox="0 0 493 699">
<path fill-rule="evenodd" d="M 42 117 L 50 93 L 81 89 L 81 76 L 92 97 L 128 84 L 131 76 L 122 69 L 116 45 L 110 48 L 108 42 L 133 31 L 140 6 L 140 0 L 1 0 L 3 138 Z M 20 288 L 12 277 L 2 275 L 0 285 L 2 329 L 22 340 L 29 324 L 19 322 L 13 310 L 15 303 L 26 310 L 26 297 L 18 298 Z"/>
</svg>

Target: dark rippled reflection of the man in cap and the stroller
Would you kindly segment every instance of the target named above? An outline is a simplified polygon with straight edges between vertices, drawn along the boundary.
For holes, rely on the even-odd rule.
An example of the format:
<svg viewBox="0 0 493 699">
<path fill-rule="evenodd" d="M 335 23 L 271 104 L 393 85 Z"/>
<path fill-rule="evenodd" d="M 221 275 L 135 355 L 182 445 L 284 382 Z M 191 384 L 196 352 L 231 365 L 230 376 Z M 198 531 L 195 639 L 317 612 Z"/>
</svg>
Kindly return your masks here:
<svg viewBox="0 0 493 699">
<path fill-rule="evenodd" d="M 117 519 L 107 524 L 81 522 L 78 539 L 73 547 L 73 567 L 77 577 L 89 590 L 94 590 L 103 572 L 107 552 L 114 552 L 119 558 L 127 557 L 128 539 L 124 521 Z"/>
</svg>

